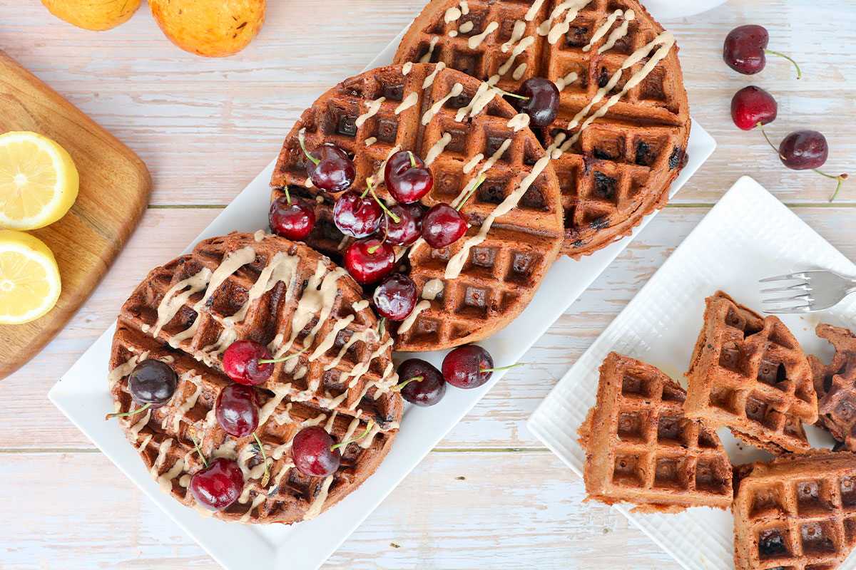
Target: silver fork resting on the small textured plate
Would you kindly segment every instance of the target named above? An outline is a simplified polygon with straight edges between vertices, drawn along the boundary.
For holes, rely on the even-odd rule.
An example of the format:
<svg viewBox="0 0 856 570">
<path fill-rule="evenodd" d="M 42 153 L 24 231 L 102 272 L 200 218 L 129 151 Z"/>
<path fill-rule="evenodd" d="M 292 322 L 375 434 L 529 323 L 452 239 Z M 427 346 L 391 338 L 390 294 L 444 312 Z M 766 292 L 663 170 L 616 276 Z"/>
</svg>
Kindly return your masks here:
<svg viewBox="0 0 856 570">
<path fill-rule="evenodd" d="M 814 270 L 800 271 L 800 273 L 788 273 L 760 279 L 758 283 L 771 283 L 773 281 L 793 281 L 800 283 L 786 287 L 774 287 L 764 289 L 762 294 L 787 293 L 788 297 L 776 297 L 775 299 L 764 299 L 764 303 L 800 303 L 793 307 L 784 309 L 764 309 L 764 313 L 815 313 L 829 307 L 835 307 L 847 295 L 856 292 L 856 279 L 847 279 L 831 271 Z"/>
</svg>

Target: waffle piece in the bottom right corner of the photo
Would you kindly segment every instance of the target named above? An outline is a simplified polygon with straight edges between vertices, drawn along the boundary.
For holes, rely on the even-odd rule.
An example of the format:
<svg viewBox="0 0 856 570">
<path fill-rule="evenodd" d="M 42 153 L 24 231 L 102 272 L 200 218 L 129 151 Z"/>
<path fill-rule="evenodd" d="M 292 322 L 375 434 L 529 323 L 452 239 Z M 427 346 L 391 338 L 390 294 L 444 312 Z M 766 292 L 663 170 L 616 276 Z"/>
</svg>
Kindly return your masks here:
<svg viewBox="0 0 856 570">
<path fill-rule="evenodd" d="M 856 455 L 812 451 L 740 468 L 736 570 L 833 570 L 856 544 Z"/>
</svg>

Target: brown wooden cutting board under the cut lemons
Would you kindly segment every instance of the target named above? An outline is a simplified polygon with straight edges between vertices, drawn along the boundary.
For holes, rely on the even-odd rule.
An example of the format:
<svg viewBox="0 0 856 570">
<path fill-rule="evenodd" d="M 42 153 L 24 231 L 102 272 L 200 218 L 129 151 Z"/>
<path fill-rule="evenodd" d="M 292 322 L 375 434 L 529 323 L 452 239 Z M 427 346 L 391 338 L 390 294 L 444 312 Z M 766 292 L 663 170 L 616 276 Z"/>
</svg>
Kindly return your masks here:
<svg viewBox="0 0 856 570">
<path fill-rule="evenodd" d="M 33 358 L 92 294 L 152 189 L 134 152 L 0 50 L 0 133 L 8 131 L 39 132 L 62 144 L 80 173 L 80 194 L 61 220 L 31 232 L 53 250 L 62 294 L 42 318 L 0 325 L 0 379 Z"/>
</svg>

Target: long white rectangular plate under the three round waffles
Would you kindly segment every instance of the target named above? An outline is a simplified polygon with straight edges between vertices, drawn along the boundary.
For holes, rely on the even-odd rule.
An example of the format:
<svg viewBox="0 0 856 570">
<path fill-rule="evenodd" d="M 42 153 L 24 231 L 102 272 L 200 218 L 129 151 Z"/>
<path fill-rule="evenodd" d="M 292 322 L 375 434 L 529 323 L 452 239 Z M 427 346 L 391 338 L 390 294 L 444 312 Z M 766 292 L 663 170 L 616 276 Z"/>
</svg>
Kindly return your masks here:
<svg viewBox="0 0 856 570">
<path fill-rule="evenodd" d="M 403 33 L 393 39 L 366 69 L 391 63 Z M 284 136 L 285 133 L 283 138 Z M 713 138 L 710 138 L 698 123 L 693 123 L 687 146 L 689 162 L 672 185 L 672 195 L 698 170 L 715 148 Z M 278 149 L 271 149 L 271 155 L 277 151 Z M 233 231 L 254 232 L 259 228 L 267 228 L 270 173 L 273 172 L 275 162 L 276 159 L 270 162 L 268 167 L 235 197 L 229 207 L 199 234 L 196 241 Z M 643 220 L 633 232 L 633 236 L 651 217 Z M 502 360 L 496 362 L 497 366 L 520 360 L 526 350 L 529 350 L 565 309 L 574 303 L 597 275 L 627 247 L 633 236 L 611 244 L 582 261 L 571 261 L 567 257 L 556 261 L 538 294 L 523 314 L 510 326 L 480 343 L 490 350 L 491 354 L 502 355 Z M 192 247 L 193 245 L 188 246 L 185 252 L 190 251 Z M 166 261 L 169 260 L 163 260 Z M 116 307 L 116 311 L 118 309 Z M 158 503 L 187 534 L 223 567 L 230 570 L 250 567 L 289 567 L 303 570 L 320 566 L 389 495 L 395 485 L 398 485 L 502 378 L 502 373 L 495 373 L 490 382 L 476 390 L 450 390 L 443 402 L 434 408 L 407 406 L 401 420 L 401 432 L 377 473 L 360 489 L 352 492 L 335 508 L 321 514 L 317 519 L 294 526 L 229 525 L 221 520 L 204 519 L 192 508 L 183 507 L 169 495 L 160 493 L 158 484 L 149 476 L 134 447 L 128 445 L 118 424 L 104 422 L 105 411 L 113 409 L 110 392 L 107 390 L 107 362 L 110 358 L 113 331 L 114 327 L 110 326 L 95 344 L 86 350 L 80 360 L 62 376 L 62 380 L 54 385 L 48 397 L 104 455 L 110 457 L 122 472 L 139 485 L 152 501 Z M 442 352 L 420 355 L 437 366 L 443 356 Z M 240 547 L 236 548 L 235 544 Z"/>
</svg>

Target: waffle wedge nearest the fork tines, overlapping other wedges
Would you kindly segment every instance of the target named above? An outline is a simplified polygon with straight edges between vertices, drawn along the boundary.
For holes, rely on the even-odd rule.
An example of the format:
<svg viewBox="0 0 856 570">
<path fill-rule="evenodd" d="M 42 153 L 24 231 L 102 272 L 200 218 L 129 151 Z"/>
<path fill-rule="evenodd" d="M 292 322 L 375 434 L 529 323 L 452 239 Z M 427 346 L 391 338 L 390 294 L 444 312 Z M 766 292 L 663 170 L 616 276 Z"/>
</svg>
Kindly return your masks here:
<svg viewBox="0 0 856 570">
<path fill-rule="evenodd" d="M 811 367 L 775 316 L 737 304 L 722 291 L 706 300 L 704 328 L 687 372 L 687 416 L 771 453 L 807 451 L 803 422 L 817 421 Z"/>
</svg>

